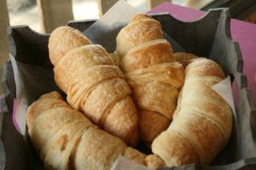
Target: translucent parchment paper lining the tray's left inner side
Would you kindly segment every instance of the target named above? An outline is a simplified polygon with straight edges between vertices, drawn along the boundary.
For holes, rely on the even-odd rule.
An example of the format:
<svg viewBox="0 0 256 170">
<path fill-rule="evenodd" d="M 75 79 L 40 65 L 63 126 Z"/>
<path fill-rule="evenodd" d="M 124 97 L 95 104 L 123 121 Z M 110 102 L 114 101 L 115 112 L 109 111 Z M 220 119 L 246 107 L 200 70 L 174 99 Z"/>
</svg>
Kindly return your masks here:
<svg viewBox="0 0 256 170">
<path fill-rule="evenodd" d="M 15 76 L 16 99 L 13 106 L 13 122 L 16 130 L 26 135 L 26 109 L 42 94 L 57 90 L 52 69 L 27 65 L 10 54 Z"/>
</svg>

